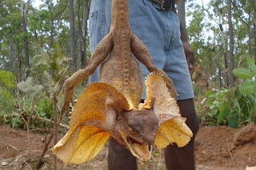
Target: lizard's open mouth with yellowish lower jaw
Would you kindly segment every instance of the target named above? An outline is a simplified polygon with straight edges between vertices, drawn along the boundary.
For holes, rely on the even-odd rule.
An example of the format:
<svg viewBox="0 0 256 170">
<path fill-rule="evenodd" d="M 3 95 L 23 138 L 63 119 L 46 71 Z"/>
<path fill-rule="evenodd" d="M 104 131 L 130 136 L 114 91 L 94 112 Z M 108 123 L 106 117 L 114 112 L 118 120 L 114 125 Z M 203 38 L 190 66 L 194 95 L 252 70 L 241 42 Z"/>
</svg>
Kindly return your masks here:
<svg viewBox="0 0 256 170">
<path fill-rule="evenodd" d="M 130 152 L 134 156 L 138 157 L 138 159 L 143 162 L 150 160 L 152 145 L 142 144 L 138 140 L 134 140 L 134 138 L 122 133 L 121 131 L 119 132 L 122 135 L 122 138 L 126 141 Z"/>
</svg>

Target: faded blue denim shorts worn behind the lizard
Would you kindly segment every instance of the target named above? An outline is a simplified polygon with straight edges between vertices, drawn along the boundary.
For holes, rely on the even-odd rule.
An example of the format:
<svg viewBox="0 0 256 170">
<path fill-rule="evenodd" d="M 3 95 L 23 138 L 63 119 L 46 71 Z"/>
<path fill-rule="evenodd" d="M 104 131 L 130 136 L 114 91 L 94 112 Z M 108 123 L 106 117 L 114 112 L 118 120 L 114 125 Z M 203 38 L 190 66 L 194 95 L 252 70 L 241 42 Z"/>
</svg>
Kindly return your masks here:
<svg viewBox="0 0 256 170">
<path fill-rule="evenodd" d="M 110 31 L 111 0 L 92 0 L 90 5 L 90 51 Z M 160 6 L 148 0 L 129 0 L 130 28 L 149 49 L 154 65 L 163 69 L 174 81 L 179 100 L 194 97 L 190 72 L 180 39 L 180 22 L 170 10 L 160 10 Z M 142 81 L 149 74 L 145 65 L 138 62 Z M 89 78 L 98 81 L 100 66 Z M 142 99 L 146 98 L 145 85 Z"/>
</svg>

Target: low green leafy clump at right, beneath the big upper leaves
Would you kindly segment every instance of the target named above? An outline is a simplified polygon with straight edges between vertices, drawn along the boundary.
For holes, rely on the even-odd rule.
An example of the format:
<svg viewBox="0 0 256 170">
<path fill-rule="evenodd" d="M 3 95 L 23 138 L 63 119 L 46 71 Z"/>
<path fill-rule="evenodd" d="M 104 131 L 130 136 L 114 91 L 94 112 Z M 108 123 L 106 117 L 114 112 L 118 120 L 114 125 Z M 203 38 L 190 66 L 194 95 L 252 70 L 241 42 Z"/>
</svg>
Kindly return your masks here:
<svg viewBox="0 0 256 170">
<path fill-rule="evenodd" d="M 255 121 L 256 97 L 241 93 L 239 86 L 233 89 L 207 91 L 202 104 L 208 106 L 199 117 L 206 125 L 228 125 L 238 128 Z"/>
</svg>

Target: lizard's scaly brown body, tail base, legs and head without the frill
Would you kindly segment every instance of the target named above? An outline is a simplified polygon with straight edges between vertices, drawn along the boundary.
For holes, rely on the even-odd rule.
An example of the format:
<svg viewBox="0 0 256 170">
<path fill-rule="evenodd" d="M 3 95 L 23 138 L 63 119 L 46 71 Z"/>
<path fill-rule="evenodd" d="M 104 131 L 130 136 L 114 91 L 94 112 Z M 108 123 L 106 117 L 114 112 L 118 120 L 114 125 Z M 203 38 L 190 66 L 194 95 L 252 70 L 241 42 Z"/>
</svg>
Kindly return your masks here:
<svg viewBox="0 0 256 170">
<path fill-rule="evenodd" d="M 98 65 L 106 60 L 102 64 L 99 81 L 118 89 L 126 97 L 130 105 L 130 111 L 124 111 L 121 117 L 116 117 L 113 111 L 114 108 L 110 109 L 112 111 L 107 113 L 110 118 L 107 119 L 105 126 L 110 127 L 111 136 L 118 140 L 120 144 L 125 145 L 134 156 L 146 161 L 150 159 L 150 151 L 145 153 L 145 150 L 154 144 L 155 133 L 158 129 L 158 117 L 153 109 L 138 109 L 142 96 L 142 77 L 138 62 L 132 56 L 132 53 L 138 61 L 146 65 L 150 72 L 162 76 L 172 96 L 176 91 L 173 82 L 166 73 L 154 65 L 146 45 L 132 34 L 129 26 L 128 0 L 112 0 L 111 19 L 110 33 L 106 34 L 96 46 L 86 68 L 78 70 L 66 80 L 64 84 L 65 99 L 61 114 L 65 109 L 69 109 L 70 101 L 73 102 L 71 96 L 74 94 L 74 86 L 94 73 Z M 108 58 L 106 59 L 106 57 Z M 145 115 L 146 112 L 147 115 Z M 145 121 L 146 119 L 149 121 Z M 143 145 L 141 146 L 142 155 L 134 152 L 131 148 L 133 142 L 127 141 L 128 138 Z"/>
</svg>

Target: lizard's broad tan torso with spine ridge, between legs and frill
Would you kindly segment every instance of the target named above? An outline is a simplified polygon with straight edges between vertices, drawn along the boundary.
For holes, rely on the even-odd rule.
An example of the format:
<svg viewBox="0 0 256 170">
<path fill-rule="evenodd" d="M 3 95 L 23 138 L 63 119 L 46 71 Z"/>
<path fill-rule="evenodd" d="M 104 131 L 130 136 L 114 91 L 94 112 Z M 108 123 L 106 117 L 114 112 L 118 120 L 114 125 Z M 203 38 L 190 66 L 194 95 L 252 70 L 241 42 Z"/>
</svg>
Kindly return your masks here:
<svg viewBox="0 0 256 170">
<path fill-rule="evenodd" d="M 115 51 L 113 49 L 102 64 L 99 81 L 118 89 L 126 97 L 130 109 L 138 108 L 143 88 L 138 62 L 130 52 L 126 52 L 127 56 L 124 56 Z"/>
</svg>

